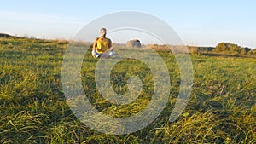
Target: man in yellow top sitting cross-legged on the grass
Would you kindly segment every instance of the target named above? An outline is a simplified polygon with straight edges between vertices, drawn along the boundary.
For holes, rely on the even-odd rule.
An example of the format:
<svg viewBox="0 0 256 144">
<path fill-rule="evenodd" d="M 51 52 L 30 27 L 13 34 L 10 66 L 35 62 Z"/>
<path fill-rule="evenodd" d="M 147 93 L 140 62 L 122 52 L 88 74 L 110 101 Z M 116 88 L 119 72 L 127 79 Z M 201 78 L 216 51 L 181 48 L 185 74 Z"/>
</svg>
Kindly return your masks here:
<svg viewBox="0 0 256 144">
<path fill-rule="evenodd" d="M 113 47 L 111 40 L 106 37 L 107 30 L 106 28 L 101 29 L 101 37 L 96 37 L 95 42 L 93 43 L 93 48 L 91 55 L 94 58 L 109 58 L 113 56 Z M 108 52 L 109 49 L 109 52 Z"/>
</svg>

